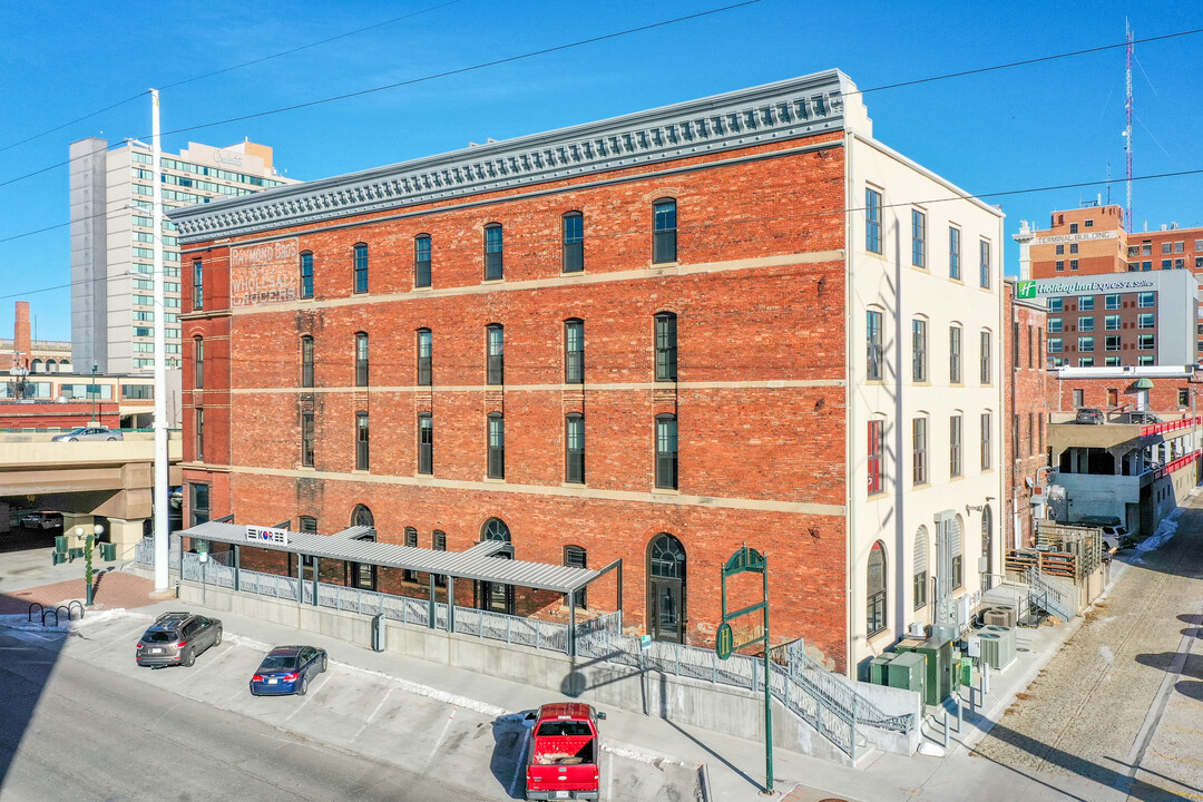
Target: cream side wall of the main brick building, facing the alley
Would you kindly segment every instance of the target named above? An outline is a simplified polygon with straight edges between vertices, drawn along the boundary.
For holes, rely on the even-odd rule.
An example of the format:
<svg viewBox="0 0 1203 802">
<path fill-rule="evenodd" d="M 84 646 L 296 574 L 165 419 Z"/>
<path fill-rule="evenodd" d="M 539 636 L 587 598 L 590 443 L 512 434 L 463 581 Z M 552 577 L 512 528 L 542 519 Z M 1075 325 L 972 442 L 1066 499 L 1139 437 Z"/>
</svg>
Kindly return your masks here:
<svg viewBox="0 0 1203 802">
<path fill-rule="evenodd" d="M 847 133 L 846 154 L 848 664 L 855 672 L 912 624 L 936 622 L 937 607 L 946 617 L 955 616 L 956 599 L 972 599 L 985 587 L 983 574 L 1002 572 L 1003 214 L 863 132 Z M 879 197 L 879 253 L 866 242 L 866 189 Z M 915 259 L 919 233 L 923 253 Z M 875 338 L 881 345 L 878 376 L 869 369 L 870 311 L 881 325 Z M 926 375 L 918 381 L 915 321 L 925 327 L 926 351 Z M 959 381 L 952 367 L 953 328 L 959 329 Z M 953 467 L 954 418 L 960 421 L 959 475 Z M 925 481 L 915 481 L 917 420 L 926 428 Z M 872 493 L 870 421 L 879 421 L 882 434 L 879 487 Z M 958 531 L 960 577 L 950 587 L 950 560 L 942 564 L 937 540 L 955 542 Z M 878 543 L 884 554 L 884 611 L 878 596 L 876 631 L 870 631 L 869 566 Z M 926 599 L 917 599 L 917 566 L 926 571 L 920 586 Z M 953 596 L 944 606 L 935 598 L 937 576 Z"/>
</svg>

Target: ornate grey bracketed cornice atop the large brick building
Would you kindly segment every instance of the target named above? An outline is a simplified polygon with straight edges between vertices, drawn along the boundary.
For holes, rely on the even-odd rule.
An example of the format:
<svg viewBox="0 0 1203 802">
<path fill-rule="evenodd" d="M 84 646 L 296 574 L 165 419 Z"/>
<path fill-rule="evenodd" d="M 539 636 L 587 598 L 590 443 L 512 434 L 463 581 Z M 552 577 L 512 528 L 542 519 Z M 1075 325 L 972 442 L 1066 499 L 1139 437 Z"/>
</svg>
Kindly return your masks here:
<svg viewBox="0 0 1203 802">
<path fill-rule="evenodd" d="M 176 209 L 183 244 L 396 209 L 846 125 L 855 88 L 838 70 L 244 197 Z M 853 119 L 867 121 L 859 94 Z"/>
</svg>

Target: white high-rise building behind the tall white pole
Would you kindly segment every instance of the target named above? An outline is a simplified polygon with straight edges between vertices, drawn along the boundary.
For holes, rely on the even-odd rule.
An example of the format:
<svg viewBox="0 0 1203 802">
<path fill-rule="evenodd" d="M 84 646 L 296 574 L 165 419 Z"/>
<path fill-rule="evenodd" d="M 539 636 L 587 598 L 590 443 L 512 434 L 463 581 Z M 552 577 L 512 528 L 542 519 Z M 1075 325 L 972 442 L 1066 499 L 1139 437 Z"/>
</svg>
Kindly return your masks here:
<svg viewBox="0 0 1203 802">
<path fill-rule="evenodd" d="M 71 345 L 77 370 L 154 369 L 154 222 L 150 145 L 136 139 L 109 150 L 96 137 L 71 143 Z M 162 156 L 166 208 L 261 192 L 298 182 L 275 173 L 272 148 L 245 141 L 229 148 L 189 142 Z M 179 357 L 179 246 L 164 220 L 167 368 Z"/>
</svg>

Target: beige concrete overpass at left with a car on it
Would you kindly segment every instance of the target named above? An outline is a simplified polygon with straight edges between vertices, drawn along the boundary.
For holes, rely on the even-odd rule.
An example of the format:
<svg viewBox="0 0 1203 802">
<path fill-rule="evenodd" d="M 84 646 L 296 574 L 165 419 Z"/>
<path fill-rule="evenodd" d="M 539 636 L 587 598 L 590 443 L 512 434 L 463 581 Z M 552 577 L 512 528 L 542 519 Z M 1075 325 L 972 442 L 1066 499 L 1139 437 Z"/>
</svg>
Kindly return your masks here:
<svg viewBox="0 0 1203 802">
<path fill-rule="evenodd" d="M 103 516 L 118 557 L 132 557 L 153 515 L 154 435 L 131 432 L 113 442 L 51 442 L 53 436 L 0 434 L 0 503 L 58 510 L 64 534 Z M 179 432 L 171 433 L 167 456 L 168 483 L 179 485 Z"/>
</svg>

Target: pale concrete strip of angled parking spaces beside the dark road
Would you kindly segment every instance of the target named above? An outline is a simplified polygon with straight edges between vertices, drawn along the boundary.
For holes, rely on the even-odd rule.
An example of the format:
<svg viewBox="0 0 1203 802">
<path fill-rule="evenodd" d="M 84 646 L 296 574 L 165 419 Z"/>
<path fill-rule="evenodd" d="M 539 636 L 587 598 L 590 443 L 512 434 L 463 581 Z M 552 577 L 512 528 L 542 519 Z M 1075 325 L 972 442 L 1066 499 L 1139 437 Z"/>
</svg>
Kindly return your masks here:
<svg viewBox="0 0 1203 802">
<path fill-rule="evenodd" d="M 419 776 L 440 778 L 485 798 L 522 798 L 528 739 L 525 711 L 503 709 L 357 667 L 338 649 L 331 649 L 328 671 L 310 684 L 306 696 L 253 697 L 249 679 L 268 647 L 275 644 L 255 641 L 226 623 L 223 643 L 197 655 L 191 669 L 140 669 L 135 644 L 152 619 L 143 612 L 124 611 L 85 619 L 77 630 L 79 637 L 67 638 L 61 658 Z M 352 658 L 358 652 L 354 647 L 345 650 Z M 698 786 L 695 766 L 652 760 L 622 748 L 604 751 L 602 771 L 604 798 L 610 800 L 692 800 Z"/>
</svg>

